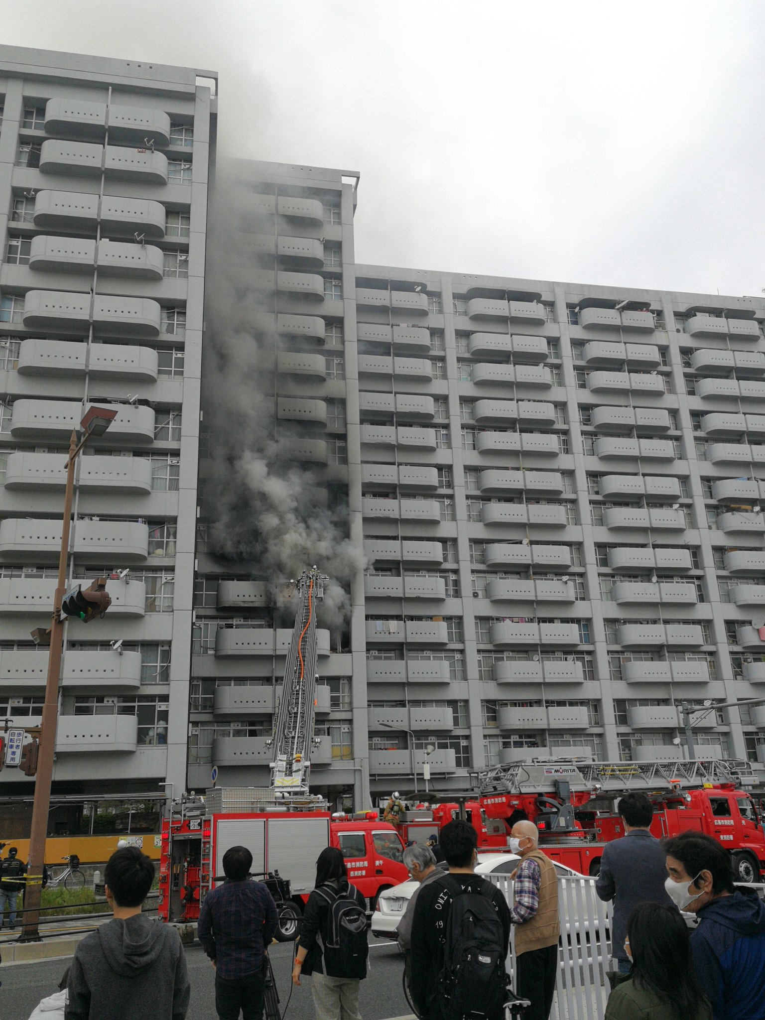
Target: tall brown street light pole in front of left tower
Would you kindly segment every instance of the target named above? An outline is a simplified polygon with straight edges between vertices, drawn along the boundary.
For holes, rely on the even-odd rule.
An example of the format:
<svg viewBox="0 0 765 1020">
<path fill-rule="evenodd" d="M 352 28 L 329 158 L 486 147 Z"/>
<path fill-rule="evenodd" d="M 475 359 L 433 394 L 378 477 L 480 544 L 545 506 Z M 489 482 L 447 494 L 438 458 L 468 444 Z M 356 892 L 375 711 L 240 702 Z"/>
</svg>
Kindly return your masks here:
<svg viewBox="0 0 765 1020">
<path fill-rule="evenodd" d="M 48 834 L 48 814 L 50 812 L 50 792 L 53 782 L 53 760 L 56 753 L 56 726 L 58 723 L 58 684 L 61 676 L 63 656 L 63 620 L 61 603 L 66 595 L 66 566 L 69 556 L 69 532 L 71 525 L 71 503 L 74 493 L 74 465 L 78 455 L 92 436 L 102 436 L 116 416 L 116 411 L 90 408 L 83 418 L 84 436 L 78 444 L 76 430 L 72 428 L 69 439 L 69 456 L 66 461 L 66 489 L 64 492 L 63 521 L 61 524 L 61 549 L 58 554 L 58 581 L 53 596 L 53 615 L 50 626 L 50 650 L 48 652 L 48 678 L 45 683 L 42 729 L 35 779 L 35 799 L 32 807 L 32 830 L 30 832 L 29 866 L 23 895 L 23 925 L 19 941 L 39 941 L 40 901 L 43 894 L 43 869 L 45 867 L 45 840 Z"/>
</svg>

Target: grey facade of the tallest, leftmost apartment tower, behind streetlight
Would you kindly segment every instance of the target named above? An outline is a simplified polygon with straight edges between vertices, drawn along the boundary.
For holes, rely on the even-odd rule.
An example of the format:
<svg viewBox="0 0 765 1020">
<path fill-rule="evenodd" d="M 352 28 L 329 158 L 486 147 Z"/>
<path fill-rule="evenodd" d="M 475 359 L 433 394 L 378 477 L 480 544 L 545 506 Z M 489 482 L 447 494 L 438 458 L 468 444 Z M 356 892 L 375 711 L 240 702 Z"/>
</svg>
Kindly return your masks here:
<svg viewBox="0 0 765 1020">
<path fill-rule="evenodd" d="M 204 72 L 202 72 L 204 73 Z M 186 780 L 214 83 L 193 69 L 0 47 L 0 714 L 39 723 L 64 461 L 83 409 L 54 793 Z M 121 643 L 121 644 L 118 644 Z M 3 794 L 27 794 L 19 769 Z"/>
</svg>

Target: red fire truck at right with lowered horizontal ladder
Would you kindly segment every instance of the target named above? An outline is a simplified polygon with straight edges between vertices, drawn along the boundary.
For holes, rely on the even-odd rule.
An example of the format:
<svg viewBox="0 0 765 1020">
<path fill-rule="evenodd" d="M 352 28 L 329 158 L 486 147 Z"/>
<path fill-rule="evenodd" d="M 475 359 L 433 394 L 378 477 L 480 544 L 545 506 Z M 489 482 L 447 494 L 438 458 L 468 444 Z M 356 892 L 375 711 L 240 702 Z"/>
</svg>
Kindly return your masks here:
<svg viewBox="0 0 765 1020">
<path fill-rule="evenodd" d="M 405 812 L 402 837 L 426 839 L 464 810 L 478 849 L 496 853 L 508 849 L 512 826 L 527 818 L 549 857 L 595 875 L 605 845 L 624 835 L 618 798 L 641 790 L 654 805 L 654 835 L 705 832 L 731 852 L 738 881 L 758 881 L 765 873 L 765 830 L 755 800 L 743 788 L 755 781 L 748 762 L 512 763 L 474 778 L 480 796 L 463 808 L 452 803 Z"/>
</svg>

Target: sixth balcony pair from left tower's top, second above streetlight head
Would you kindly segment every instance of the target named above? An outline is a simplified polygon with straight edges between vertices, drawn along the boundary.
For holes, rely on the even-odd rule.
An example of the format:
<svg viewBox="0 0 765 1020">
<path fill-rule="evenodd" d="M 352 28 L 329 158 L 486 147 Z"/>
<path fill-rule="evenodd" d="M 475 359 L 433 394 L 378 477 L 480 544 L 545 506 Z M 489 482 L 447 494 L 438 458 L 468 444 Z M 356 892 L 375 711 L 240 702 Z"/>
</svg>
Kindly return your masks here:
<svg viewBox="0 0 765 1020">
<path fill-rule="evenodd" d="M 87 353 L 84 343 L 24 340 L 18 355 L 18 372 L 21 375 L 85 375 Z M 156 382 L 157 352 L 150 347 L 91 344 L 88 371 L 93 378 Z"/>
</svg>

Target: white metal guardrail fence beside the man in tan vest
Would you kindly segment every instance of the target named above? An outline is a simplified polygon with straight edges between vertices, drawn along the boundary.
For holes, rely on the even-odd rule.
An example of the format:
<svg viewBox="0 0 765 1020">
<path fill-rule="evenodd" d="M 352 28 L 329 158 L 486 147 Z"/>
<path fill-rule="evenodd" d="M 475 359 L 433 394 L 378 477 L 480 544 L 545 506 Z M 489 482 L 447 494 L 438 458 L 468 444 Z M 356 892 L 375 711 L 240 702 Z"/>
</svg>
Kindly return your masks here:
<svg viewBox="0 0 765 1020">
<path fill-rule="evenodd" d="M 486 875 L 509 904 L 513 883 L 507 875 Z M 765 899 L 765 885 L 752 885 Z M 558 876 L 561 948 L 551 1020 L 603 1020 L 610 991 L 606 972 L 611 965 L 612 905 L 595 891 L 595 878 Z M 693 915 L 688 915 L 691 921 Z M 511 944 L 508 971 L 515 981 L 515 951 Z"/>
</svg>

